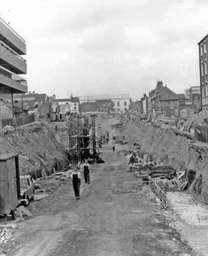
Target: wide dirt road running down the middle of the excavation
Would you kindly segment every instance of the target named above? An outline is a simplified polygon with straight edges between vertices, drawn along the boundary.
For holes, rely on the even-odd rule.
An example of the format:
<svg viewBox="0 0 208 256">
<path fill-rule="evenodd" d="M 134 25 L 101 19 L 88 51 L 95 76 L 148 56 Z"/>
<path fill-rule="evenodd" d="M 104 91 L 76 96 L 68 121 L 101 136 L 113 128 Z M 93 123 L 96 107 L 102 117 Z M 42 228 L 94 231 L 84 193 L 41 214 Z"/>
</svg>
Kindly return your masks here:
<svg viewBox="0 0 208 256">
<path fill-rule="evenodd" d="M 102 156 L 92 182 L 82 181 L 81 200 L 68 180 L 35 203 L 33 216 L 15 230 L 9 256 L 195 255 L 127 173 L 125 157 L 111 145 Z"/>
</svg>

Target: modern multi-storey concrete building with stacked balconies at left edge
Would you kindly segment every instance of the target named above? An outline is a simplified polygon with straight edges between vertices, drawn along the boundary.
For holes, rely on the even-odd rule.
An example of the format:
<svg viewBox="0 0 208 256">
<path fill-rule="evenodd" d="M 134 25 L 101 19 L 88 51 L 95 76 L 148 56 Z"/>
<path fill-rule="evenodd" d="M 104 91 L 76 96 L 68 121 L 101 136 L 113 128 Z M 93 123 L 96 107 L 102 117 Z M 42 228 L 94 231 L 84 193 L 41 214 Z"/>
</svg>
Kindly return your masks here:
<svg viewBox="0 0 208 256">
<path fill-rule="evenodd" d="M 0 18 L 0 122 L 13 118 L 13 94 L 27 92 L 25 40 Z M 1 123 L 0 123 L 1 125 Z"/>
</svg>

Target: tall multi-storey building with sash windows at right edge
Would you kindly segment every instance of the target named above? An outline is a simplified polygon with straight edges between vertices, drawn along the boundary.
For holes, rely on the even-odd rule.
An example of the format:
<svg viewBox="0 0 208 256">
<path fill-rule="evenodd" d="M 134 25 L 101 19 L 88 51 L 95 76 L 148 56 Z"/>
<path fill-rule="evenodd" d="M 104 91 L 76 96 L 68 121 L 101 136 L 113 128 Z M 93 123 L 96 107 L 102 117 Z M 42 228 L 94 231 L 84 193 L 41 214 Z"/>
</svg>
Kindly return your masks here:
<svg viewBox="0 0 208 256">
<path fill-rule="evenodd" d="M 201 109 L 208 109 L 208 35 L 198 43 L 200 89 L 201 89 Z"/>
</svg>

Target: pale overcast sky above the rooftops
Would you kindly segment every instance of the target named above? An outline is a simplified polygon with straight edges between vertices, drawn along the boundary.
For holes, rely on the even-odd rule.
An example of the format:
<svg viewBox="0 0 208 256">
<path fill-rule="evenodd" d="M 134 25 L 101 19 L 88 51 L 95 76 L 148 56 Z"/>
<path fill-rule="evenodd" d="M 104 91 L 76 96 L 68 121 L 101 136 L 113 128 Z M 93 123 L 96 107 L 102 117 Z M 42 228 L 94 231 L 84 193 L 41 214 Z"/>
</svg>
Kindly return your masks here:
<svg viewBox="0 0 208 256">
<path fill-rule="evenodd" d="M 199 85 L 207 12 L 207 0 L 7 0 L 0 16 L 27 41 L 28 90 L 139 99 L 157 80 Z"/>
</svg>

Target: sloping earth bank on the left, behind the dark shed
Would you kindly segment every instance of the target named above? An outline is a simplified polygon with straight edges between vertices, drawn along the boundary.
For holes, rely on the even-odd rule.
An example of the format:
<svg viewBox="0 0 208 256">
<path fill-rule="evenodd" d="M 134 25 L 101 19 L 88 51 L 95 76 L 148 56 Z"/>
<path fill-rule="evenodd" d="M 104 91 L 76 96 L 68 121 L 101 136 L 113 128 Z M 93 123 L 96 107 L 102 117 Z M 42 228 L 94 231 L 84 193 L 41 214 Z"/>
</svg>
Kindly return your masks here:
<svg viewBox="0 0 208 256">
<path fill-rule="evenodd" d="M 33 178 L 65 167 L 65 148 L 58 143 L 49 124 L 34 122 L 19 128 L 4 128 L 0 136 L 0 153 L 18 153 L 20 173 Z"/>
</svg>

